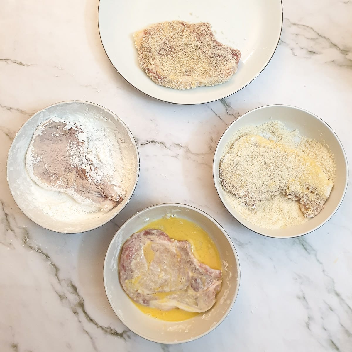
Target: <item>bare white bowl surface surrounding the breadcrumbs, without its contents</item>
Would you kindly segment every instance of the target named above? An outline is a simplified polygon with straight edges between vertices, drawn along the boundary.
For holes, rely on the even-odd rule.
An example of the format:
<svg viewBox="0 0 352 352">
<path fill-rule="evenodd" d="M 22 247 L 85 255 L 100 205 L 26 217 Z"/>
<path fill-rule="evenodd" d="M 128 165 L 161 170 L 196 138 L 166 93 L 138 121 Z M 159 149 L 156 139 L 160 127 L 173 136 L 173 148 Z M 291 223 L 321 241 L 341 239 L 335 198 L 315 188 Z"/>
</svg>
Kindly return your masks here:
<svg viewBox="0 0 352 352">
<path fill-rule="evenodd" d="M 289 226 L 284 229 L 263 228 L 257 225 L 253 225 L 251 222 L 245 220 L 226 199 L 226 194 L 222 188 L 219 176 L 220 159 L 224 151 L 224 147 L 231 139 L 233 134 L 237 132 L 241 127 L 248 125 L 260 125 L 271 120 L 279 120 L 283 122 L 287 128 L 292 130 L 297 128 L 304 136 L 316 139 L 318 142 L 324 145 L 328 145 L 335 156 L 336 162 L 335 184 L 321 212 L 314 216 L 314 218 L 309 219 L 304 224 Z M 245 113 L 239 119 L 234 121 L 230 126 L 228 126 L 220 138 L 215 150 L 213 176 L 215 188 L 218 191 L 222 203 L 230 212 L 230 214 L 242 225 L 254 232 L 265 236 L 275 238 L 290 238 L 298 237 L 316 230 L 325 224 L 325 222 L 327 222 L 334 215 L 346 193 L 348 182 L 348 166 L 346 154 L 340 140 L 334 131 L 318 116 L 294 106 L 268 105 Z"/>
</svg>

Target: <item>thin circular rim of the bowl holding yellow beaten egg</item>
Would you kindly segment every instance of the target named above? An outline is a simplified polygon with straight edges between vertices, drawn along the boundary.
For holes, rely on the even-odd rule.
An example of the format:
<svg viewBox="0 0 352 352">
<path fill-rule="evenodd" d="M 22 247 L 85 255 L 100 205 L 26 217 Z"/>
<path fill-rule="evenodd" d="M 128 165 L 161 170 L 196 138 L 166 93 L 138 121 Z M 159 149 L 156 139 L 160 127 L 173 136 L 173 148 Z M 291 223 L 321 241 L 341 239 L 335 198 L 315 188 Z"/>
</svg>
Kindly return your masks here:
<svg viewBox="0 0 352 352">
<path fill-rule="evenodd" d="M 156 208 L 156 207 L 159 207 L 159 206 L 181 206 L 181 207 L 186 207 L 186 208 L 189 208 L 189 209 L 192 209 L 192 210 L 195 210 L 196 212 L 199 212 L 201 215 L 203 216 L 206 216 L 208 217 L 208 219 L 210 221 L 212 221 L 219 229 L 220 231 L 225 235 L 225 237 L 227 238 L 228 242 L 230 243 L 230 246 L 232 247 L 233 249 L 233 252 L 235 254 L 235 260 L 236 260 L 236 265 L 237 265 L 237 274 L 238 274 L 238 280 L 237 280 L 237 288 L 236 288 L 236 292 L 235 292 L 235 295 L 233 297 L 233 302 L 231 303 L 231 306 L 230 308 L 228 309 L 228 312 L 226 312 L 226 314 L 224 314 L 224 316 L 216 323 L 216 325 L 212 328 L 210 328 L 206 333 L 203 333 L 199 336 L 197 336 L 196 338 L 191 338 L 191 339 L 188 339 L 188 340 L 183 340 L 183 341 L 172 341 L 172 342 L 165 342 L 165 341 L 162 341 L 162 340 L 159 340 L 159 341 L 156 341 L 156 340 L 151 340 L 149 338 L 147 338 L 146 336 L 142 336 L 141 334 L 137 333 L 136 331 L 134 331 L 134 329 L 132 329 L 130 326 L 127 326 L 124 319 L 120 318 L 117 313 L 115 312 L 114 308 L 113 308 L 113 304 L 110 302 L 110 299 L 109 299 L 109 296 L 107 294 L 107 286 L 106 286 L 106 280 L 105 280 L 105 271 L 106 271 L 106 260 L 107 260 L 107 255 L 110 251 L 110 247 L 112 245 L 112 242 L 114 240 L 114 238 L 116 237 L 116 235 L 119 233 L 119 231 L 121 230 L 121 228 L 123 226 L 125 226 L 128 222 L 130 222 L 133 218 L 135 218 L 136 216 L 140 215 L 141 213 L 143 213 L 145 210 L 148 210 L 148 209 L 151 209 L 151 208 Z M 132 234 L 131 234 L 132 235 Z M 119 253 L 118 253 L 118 256 L 119 256 Z M 190 341 L 195 341 L 197 339 L 200 339 L 201 337 L 207 335 L 208 333 L 212 332 L 214 329 L 216 329 L 224 320 L 225 318 L 228 316 L 228 314 L 231 312 L 231 309 L 233 308 L 234 306 L 234 303 L 235 301 L 237 300 L 237 296 L 238 296 L 238 292 L 239 292 L 239 288 L 240 288 L 240 278 L 241 278 L 241 270 L 240 270 L 240 262 L 239 262 L 239 258 L 238 258 L 238 254 L 237 254 L 237 251 L 236 251 L 236 248 L 233 244 L 233 241 L 231 239 L 231 237 L 228 235 L 228 233 L 224 230 L 224 228 L 219 224 L 218 221 L 216 221 L 212 216 L 210 216 L 209 214 L 207 214 L 206 212 L 204 212 L 203 210 L 200 210 L 196 207 L 193 207 L 193 206 L 190 206 L 190 205 L 187 205 L 187 204 L 183 204 L 183 203 L 160 203 L 160 204 L 155 204 L 155 205 L 152 205 L 150 207 L 146 207 L 142 210 L 139 210 L 137 213 L 133 214 L 132 216 L 130 216 L 130 218 L 128 218 L 120 227 L 119 229 L 117 230 L 117 232 L 114 234 L 113 238 L 111 239 L 110 243 L 109 243 L 109 246 L 108 246 L 108 249 L 106 251 L 106 254 L 105 254 L 105 259 L 104 259 L 104 264 L 103 264 L 103 281 L 104 281 L 104 288 L 105 288 L 105 294 L 106 294 L 106 297 L 109 301 L 109 304 L 113 310 L 113 312 L 117 315 L 117 317 L 121 320 L 121 322 L 128 328 L 130 329 L 133 333 L 137 334 L 138 336 L 142 337 L 143 339 L 145 340 L 148 340 L 148 341 L 152 341 L 152 342 L 158 342 L 158 343 L 163 343 L 163 344 L 182 344 L 182 343 L 185 343 L 185 342 L 190 342 Z"/>
</svg>

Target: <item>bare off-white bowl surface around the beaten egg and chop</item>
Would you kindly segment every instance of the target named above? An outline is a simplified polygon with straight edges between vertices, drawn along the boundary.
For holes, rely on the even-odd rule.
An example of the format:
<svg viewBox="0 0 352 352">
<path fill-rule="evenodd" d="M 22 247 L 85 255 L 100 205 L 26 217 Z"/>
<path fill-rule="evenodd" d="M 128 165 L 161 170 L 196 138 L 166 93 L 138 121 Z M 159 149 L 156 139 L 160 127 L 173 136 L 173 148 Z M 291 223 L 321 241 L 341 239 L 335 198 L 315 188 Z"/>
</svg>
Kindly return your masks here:
<svg viewBox="0 0 352 352">
<path fill-rule="evenodd" d="M 160 219 L 166 214 L 176 215 L 201 226 L 214 241 L 222 263 L 227 264 L 226 269 L 222 269 L 221 290 L 214 306 L 204 314 L 181 322 L 158 320 L 144 314 L 132 303 L 119 282 L 118 260 L 122 245 L 147 222 Z M 230 312 L 237 297 L 239 282 L 237 253 L 225 230 L 201 210 L 177 203 L 155 205 L 128 219 L 112 239 L 104 262 L 106 295 L 116 315 L 134 333 L 163 344 L 192 341 L 215 329 Z"/>
</svg>

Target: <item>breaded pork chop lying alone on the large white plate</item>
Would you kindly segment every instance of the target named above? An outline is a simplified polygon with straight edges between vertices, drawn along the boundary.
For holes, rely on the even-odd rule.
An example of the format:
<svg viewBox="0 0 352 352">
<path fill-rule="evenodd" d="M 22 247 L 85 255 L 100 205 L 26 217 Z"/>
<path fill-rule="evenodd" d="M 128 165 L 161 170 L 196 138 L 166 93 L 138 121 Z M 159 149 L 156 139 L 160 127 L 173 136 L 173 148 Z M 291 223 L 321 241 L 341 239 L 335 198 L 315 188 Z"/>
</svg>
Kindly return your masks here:
<svg viewBox="0 0 352 352">
<path fill-rule="evenodd" d="M 209 23 L 158 23 L 134 33 L 139 62 L 161 86 L 189 89 L 228 81 L 241 52 L 219 43 Z"/>
</svg>

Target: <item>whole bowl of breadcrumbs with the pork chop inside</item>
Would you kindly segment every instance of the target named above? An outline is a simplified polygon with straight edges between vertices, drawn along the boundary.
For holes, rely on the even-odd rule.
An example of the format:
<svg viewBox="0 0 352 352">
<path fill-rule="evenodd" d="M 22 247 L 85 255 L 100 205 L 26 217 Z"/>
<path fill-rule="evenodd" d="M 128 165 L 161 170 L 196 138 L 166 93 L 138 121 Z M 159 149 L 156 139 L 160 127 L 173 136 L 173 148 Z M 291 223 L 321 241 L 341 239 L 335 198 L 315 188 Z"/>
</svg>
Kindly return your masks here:
<svg viewBox="0 0 352 352">
<path fill-rule="evenodd" d="M 298 237 L 325 224 L 346 193 L 348 166 L 334 131 L 287 105 L 242 115 L 224 132 L 213 162 L 219 197 L 259 234 Z"/>
</svg>

